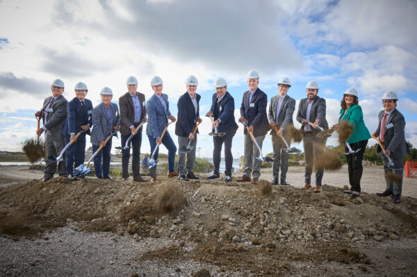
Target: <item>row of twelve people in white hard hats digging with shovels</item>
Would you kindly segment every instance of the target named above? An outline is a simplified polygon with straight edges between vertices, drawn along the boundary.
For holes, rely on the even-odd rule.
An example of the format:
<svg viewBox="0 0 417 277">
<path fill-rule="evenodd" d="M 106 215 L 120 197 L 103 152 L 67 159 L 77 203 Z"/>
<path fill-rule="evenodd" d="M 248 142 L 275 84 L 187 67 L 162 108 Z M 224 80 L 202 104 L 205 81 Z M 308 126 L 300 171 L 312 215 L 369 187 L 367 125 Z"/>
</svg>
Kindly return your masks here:
<svg viewBox="0 0 417 277">
<path fill-rule="evenodd" d="M 267 110 L 268 96 L 259 89 L 259 73 L 251 70 L 247 74 L 247 90 L 243 94 L 240 105 L 239 122 L 245 125 L 244 156 L 245 168 L 243 176 L 237 182 L 251 182 L 256 185 L 261 176 L 261 160 L 259 149 L 262 147 L 265 135 L 270 131 L 273 148 L 273 179 L 272 185 L 287 185 L 286 173 L 288 171 L 288 147 L 291 144 L 291 128 L 293 125 L 293 113 L 295 112 L 295 99 L 288 95 L 291 81 L 282 78 L 278 82 L 279 94 L 270 100 Z M 163 93 L 163 81 L 154 76 L 151 80 L 154 94 L 145 103 L 145 95 L 138 92 L 138 81 L 135 77 L 127 78 L 127 90 L 119 99 L 119 108 L 111 103 L 113 92 L 109 87 L 104 87 L 101 92 L 101 103 L 93 108 L 92 102 L 85 99 L 88 94 L 84 83 L 77 83 L 75 97 L 70 102 L 62 95 L 64 83 L 57 79 L 51 86 L 52 96 L 44 100 L 42 110 L 36 112 L 36 116 L 42 117 L 43 126 L 37 133 L 45 132 L 45 145 L 47 156 L 56 157 L 64 146 L 72 142 L 66 151 L 65 162 L 47 160 L 44 169 L 44 181 L 53 178 L 57 171 L 60 176 L 74 179 L 74 168 L 82 165 L 85 160 L 85 135 L 90 134 L 92 150 L 102 149 L 94 158 L 95 174 L 97 178 L 111 179 L 109 176 L 111 160 L 111 137 L 120 131 L 122 147 L 129 141 L 129 147 L 122 149 L 122 178 L 129 178 L 130 148 L 132 148 L 133 181 L 146 182 L 140 176 L 140 146 L 142 144 L 142 125 L 147 122 L 146 135 L 154 152 L 154 160 L 158 159 L 159 144 L 163 144 L 168 151 L 168 177 L 177 176 L 180 181 L 199 179 L 193 172 L 195 163 L 195 150 L 197 145 L 198 124 L 202 122 L 199 115 L 199 100 L 201 96 L 196 93 L 198 81 L 193 75 L 186 78 L 186 92 L 177 103 L 177 118 L 170 112 L 168 95 Z M 316 81 L 309 81 L 306 85 L 306 98 L 300 100 L 297 110 L 297 121 L 302 124 L 304 156 L 306 159 L 304 186 L 302 190 L 311 188 L 311 174 L 316 159 L 324 150 L 325 136 L 318 136 L 320 129 L 329 129 L 326 120 L 326 101 L 318 96 L 319 85 Z M 378 128 L 373 134 L 379 137 L 384 151 L 379 147 L 378 151 L 391 157 L 393 166 L 384 162 L 385 174 L 395 171 L 401 176 L 400 182 L 393 182 L 386 178 L 386 190 L 379 196 L 393 195 L 393 201 L 400 203 L 402 188 L 402 174 L 404 168 L 404 156 L 407 153 L 407 143 L 404 138 L 405 121 L 402 114 L 396 109 L 398 100 L 395 92 L 386 92 L 382 97 L 383 108 L 379 112 Z M 213 165 L 214 170 L 207 180 L 220 178 L 221 151 L 224 144 L 224 182 L 232 181 L 231 170 L 233 156 L 231 145 L 233 137 L 238 129 L 234 117 L 234 98 L 227 92 L 227 81 L 218 78 L 215 81 L 215 93 L 211 99 L 211 108 L 206 113 L 211 117 L 213 131 L 222 135 L 213 135 Z M 370 139 L 370 133 L 363 121 L 363 113 L 358 101 L 358 92 L 354 88 L 346 90 L 341 101 L 339 122 L 349 121 L 353 126 L 353 133 L 347 143 L 352 153 L 347 155 L 348 175 L 350 189 L 345 193 L 352 197 L 359 196 L 361 192 L 362 159 L 363 153 Z M 174 144 L 170 133 L 166 130 L 169 123 L 176 122 L 175 135 L 178 137 L 178 167 L 174 170 L 174 160 L 177 146 Z M 90 128 L 92 127 L 91 131 Z M 318 128 L 320 127 L 320 128 Z M 332 128 L 338 128 L 337 124 Z M 130 140 L 128 138 L 131 137 Z M 256 145 L 257 144 L 257 145 Z M 258 147 L 259 146 L 259 147 Z M 346 146 L 347 147 L 347 146 Z M 156 149 L 156 151 L 154 151 Z M 348 147 L 347 147 L 348 150 Z M 384 156 L 383 156 L 384 158 Z M 279 175 L 279 171 L 281 174 Z M 151 182 L 156 183 L 156 166 L 150 170 Z M 323 169 L 316 169 L 316 187 L 314 192 L 322 190 Z"/>
</svg>

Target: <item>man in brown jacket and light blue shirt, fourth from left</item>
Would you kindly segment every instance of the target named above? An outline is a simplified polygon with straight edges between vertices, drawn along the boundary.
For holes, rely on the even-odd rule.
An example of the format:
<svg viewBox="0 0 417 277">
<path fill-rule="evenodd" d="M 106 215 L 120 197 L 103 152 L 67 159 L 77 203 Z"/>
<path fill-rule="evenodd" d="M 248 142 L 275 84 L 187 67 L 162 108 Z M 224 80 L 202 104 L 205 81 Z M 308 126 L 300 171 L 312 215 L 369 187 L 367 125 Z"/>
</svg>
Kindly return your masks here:
<svg viewBox="0 0 417 277">
<path fill-rule="evenodd" d="M 142 126 L 136 131 L 136 127 L 146 119 L 145 94 L 138 92 L 138 80 L 130 76 L 126 81 L 127 90 L 119 98 L 120 106 L 120 133 L 122 134 L 122 147 L 130 135 L 134 135 L 129 146 L 133 148 L 132 171 L 134 182 L 146 182 L 140 176 L 140 145 L 142 144 Z M 122 150 L 122 178 L 129 178 L 130 148 Z"/>
</svg>

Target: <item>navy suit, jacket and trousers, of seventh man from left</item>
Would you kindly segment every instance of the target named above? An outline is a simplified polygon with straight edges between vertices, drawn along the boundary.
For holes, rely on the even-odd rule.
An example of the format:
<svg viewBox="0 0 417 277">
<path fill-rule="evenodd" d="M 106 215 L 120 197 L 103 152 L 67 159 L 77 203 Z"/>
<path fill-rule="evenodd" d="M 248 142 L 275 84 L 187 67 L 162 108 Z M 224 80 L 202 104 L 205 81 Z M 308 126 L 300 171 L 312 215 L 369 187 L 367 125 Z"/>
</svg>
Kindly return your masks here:
<svg viewBox="0 0 417 277">
<path fill-rule="evenodd" d="M 219 133 L 226 133 L 223 137 L 213 136 L 213 165 L 214 171 L 213 174 L 220 176 L 220 160 L 222 152 L 222 144 L 224 143 L 224 163 L 226 165 L 226 170 L 224 175 L 231 177 L 231 167 L 233 165 L 233 156 L 231 154 L 231 142 L 236 130 L 238 129 L 238 124 L 236 124 L 234 118 L 234 99 L 226 92 L 220 102 L 218 102 L 217 94 L 213 94 L 211 99 L 211 108 L 210 111 L 213 112 L 214 120 L 220 119 L 220 124 L 218 126 Z M 214 128 L 213 128 L 214 131 Z"/>
</svg>

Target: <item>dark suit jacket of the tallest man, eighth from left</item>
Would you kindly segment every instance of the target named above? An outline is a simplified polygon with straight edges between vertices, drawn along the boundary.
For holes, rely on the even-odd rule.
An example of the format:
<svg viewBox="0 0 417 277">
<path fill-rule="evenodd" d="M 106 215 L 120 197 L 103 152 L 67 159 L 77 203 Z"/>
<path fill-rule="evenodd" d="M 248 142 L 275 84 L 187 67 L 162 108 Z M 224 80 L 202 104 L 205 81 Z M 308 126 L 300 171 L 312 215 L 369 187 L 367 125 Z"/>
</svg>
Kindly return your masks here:
<svg viewBox="0 0 417 277">
<path fill-rule="evenodd" d="M 247 126 L 254 126 L 254 136 L 265 135 L 269 130 L 268 117 L 266 116 L 266 105 L 268 97 L 265 92 L 259 89 L 255 90 L 251 103 L 254 107 L 250 108 L 249 103 L 250 91 L 243 94 L 242 104 L 240 105 L 240 117 L 245 117 Z M 246 133 L 246 128 L 244 133 Z"/>
</svg>

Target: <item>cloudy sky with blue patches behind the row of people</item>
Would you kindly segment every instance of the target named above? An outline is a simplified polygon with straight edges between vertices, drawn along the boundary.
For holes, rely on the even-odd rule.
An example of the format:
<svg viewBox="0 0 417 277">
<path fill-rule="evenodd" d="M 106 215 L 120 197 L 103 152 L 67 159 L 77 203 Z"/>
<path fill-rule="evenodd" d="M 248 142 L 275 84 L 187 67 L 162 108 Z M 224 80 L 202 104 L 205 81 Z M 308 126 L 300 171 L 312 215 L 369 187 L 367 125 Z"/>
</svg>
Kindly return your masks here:
<svg viewBox="0 0 417 277">
<path fill-rule="evenodd" d="M 343 92 L 355 87 L 370 133 L 382 94 L 393 90 L 407 121 L 406 139 L 417 146 L 416 14 L 414 0 L 0 0 L 0 150 L 17 151 L 19 142 L 35 137 L 33 114 L 56 78 L 64 81 L 68 100 L 83 81 L 97 105 L 104 86 L 117 103 L 131 75 L 149 99 L 149 81 L 158 75 L 177 115 L 185 78 L 193 74 L 204 115 L 215 78 L 222 76 L 237 117 L 250 69 L 261 74 L 259 87 L 268 101 L 281 77 L 291 79 L 288 94 L 297 106 L 306 83 L 318 81 L 329 124 L 338 119 Z M 169 130 L 173 134 L 174 126 Z M 205 118 L 198 143 L 202 157 L 212 156 L 209 131 Z M 232 150 L 243 155 L 242 128 Z M 149 152 L 147 137 L 142 152 Z M 263 152 L 272 152 L 270 135 Z"/>
</svg>

